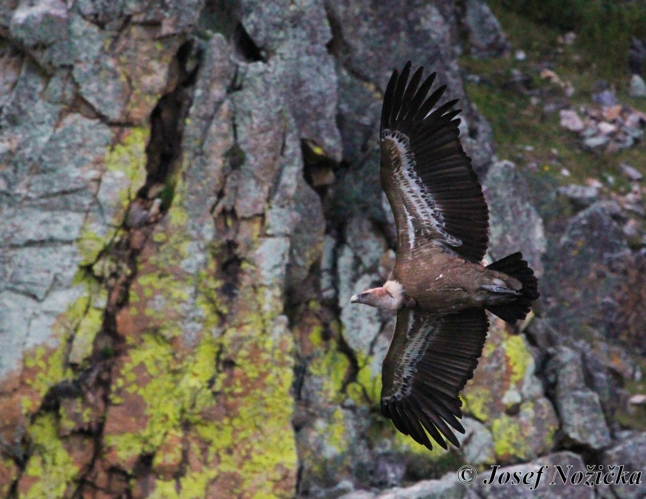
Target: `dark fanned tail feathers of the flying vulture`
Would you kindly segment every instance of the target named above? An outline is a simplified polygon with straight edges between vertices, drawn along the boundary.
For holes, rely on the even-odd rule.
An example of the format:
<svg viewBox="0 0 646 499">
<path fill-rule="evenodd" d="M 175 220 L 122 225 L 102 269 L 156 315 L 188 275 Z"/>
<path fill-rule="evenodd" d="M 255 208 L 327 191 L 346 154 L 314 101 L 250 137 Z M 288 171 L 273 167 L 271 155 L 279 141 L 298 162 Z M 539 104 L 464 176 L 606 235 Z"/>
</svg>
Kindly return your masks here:
<svg viewBox="0 0 646 499">
<path fill-rule="evenodd" d="M 532 301 L 536 300 L 540 294 L 538 292 L 538 280 L 525 260 L 523 254 L 516 252 L 505 256 L 501 260 L 494 261 L 487 265 L 487 269 L 502 272 L 521 281 L 523 287 L 520 296 L 516 300 L 502 303 L 499 305 L 488 305 L 485 308 L 506 322 L 514 323 L 517 320 L 523 320 L 532 307 Z"/>
</svg>

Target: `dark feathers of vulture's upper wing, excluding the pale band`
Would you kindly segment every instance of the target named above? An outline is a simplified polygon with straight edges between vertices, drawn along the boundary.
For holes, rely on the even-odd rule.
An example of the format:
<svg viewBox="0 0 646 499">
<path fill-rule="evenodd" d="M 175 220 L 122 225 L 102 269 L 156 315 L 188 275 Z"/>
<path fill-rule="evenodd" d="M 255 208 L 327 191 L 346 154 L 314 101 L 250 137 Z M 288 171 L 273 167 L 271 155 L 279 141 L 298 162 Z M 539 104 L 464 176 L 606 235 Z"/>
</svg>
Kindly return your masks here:
<svg viewBox="0 0 646 499">
<path fill-rule="evenodd" d="M 430 196 L 435 208 L 444 218 L 444 227 L 448 234 L 459 239 L 462 244 L 457 246 L 445 245 L 444 249 L 453 252 L 468 261 L 479 262 L 485 255 L 488 244 L 488 209 L 482 188 L 471 165 L 471 159 L 466 156 L 459 139 L 456 118 L 460 110 L 452 110 L 457 100 L 452 100 L 435 108 L 446 90 L 446 85 L 437 88 L 430 96 L 435 81 L 435 73 L 426 78 L 423 83 L 423 68 L 419 68 L 408 81 L 411 72 L 410 61 L 406 63 L 401 74 L 395 70 L 391 76 L 386 92 L 381 114 L 381 137 L 388 129 L 391 132 L 401 132 L 408 137 L 408 152 L 415 161 L 415 173 L 421 180 L 424 194 Z M 406 228 L 406 212 L 404 206 L 406 192 L 394 193 L 397 188 L 392 175 L 402 158 L 393 148 L 384 148 L 382 140 L 382 187 L 386 190 L 391 208 L 397 221 L 397 231 L 401 234 Z M 410 210 L 408 210 L 410 214 Z M 416 219 L 416 239 L 424 232 L 424 224 L 430 221 Z M 422 243 L 430 243 L 428 239 L 437 238 L 437 234 L 426 236 Z M 421 237 L 421 239 L 424 239 Z M 398 243 L 399 250 L 406 251 L 406 245 Z"/>
</svg>

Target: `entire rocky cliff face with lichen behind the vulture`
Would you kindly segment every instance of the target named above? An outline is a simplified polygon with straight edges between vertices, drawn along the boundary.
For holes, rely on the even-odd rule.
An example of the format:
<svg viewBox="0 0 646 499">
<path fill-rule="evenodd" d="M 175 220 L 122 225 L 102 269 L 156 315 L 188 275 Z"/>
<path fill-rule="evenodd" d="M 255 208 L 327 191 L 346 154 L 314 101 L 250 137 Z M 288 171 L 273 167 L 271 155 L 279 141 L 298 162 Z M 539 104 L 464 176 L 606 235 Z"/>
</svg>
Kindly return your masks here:
<svg viewBox="0 0 646 499">
<path fill-rule="evenodd" d="M 543 265 L 521 171 L 492 165 L 464 94 L 467 46 L 508 48 L 479 0 L 0 5 L 0 496 L 371 497 L 465 462 L 630 458 L 612 414 L 636 366 L 611 322 L 585 332 L 636 257 L 616 243 L 607 292 L 580 275 L 594 245 Z M 525 334 L 492 327 L 460 451 L 380 416 L 393 318 L 349 307 L 393 263 L 377 120 L 408 59 L 463 99 L 491 254 L 546 282 Z M 593 205 L 555 251 L 614 227 Z"/>
</svg>

